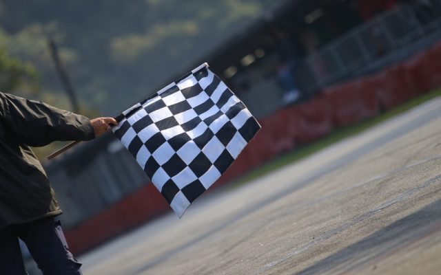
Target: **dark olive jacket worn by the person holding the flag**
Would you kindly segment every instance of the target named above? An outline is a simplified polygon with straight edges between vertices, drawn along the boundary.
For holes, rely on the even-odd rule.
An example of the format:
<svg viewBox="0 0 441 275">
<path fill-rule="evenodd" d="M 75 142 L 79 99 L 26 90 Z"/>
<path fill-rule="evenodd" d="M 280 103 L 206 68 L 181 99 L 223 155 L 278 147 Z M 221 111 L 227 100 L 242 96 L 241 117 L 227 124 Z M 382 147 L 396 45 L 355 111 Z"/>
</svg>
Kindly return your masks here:
<svg viewBox="0 0 441 275">
<path fill-rule="evenodd" d="M 88 118 L 0 92 L 0 230 L 61 214 L 48 177 L 29 146 L 92 138 Z"/>
</svg>

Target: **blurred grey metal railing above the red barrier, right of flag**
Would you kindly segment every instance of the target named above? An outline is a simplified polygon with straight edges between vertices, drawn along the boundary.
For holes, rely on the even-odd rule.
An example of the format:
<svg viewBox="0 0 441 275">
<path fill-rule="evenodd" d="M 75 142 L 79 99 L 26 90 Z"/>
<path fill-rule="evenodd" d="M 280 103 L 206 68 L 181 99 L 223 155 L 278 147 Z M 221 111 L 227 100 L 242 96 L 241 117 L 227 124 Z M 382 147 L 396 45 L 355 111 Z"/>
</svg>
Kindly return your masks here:
<svg viewBox="0 0 441 275">
<path fill-rule="evenodd" d="M 310 54 L 296 68 L 294 78 L 303 98 L 329 85 L 356 78 L 396 63 L 441 40 L 441 1 L 430 13 L 397 5 Z M 283 106 L 283 90 L 276 78 L 251 87 L 241 98 L 257 117 Z"/>
</svg>

